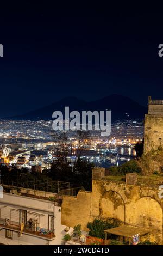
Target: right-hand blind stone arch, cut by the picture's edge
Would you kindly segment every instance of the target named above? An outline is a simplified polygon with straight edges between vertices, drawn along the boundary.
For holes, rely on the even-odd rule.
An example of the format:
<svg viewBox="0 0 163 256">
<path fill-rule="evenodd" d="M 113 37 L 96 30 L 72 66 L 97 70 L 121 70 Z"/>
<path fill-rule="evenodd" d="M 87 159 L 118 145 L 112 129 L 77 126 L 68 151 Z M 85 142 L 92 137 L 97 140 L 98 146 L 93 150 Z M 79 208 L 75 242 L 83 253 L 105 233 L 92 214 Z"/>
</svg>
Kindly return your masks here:
<svg viewBox="0 0 163 256">
<path fill-rule="evenodd" d="M 162 208 L 153 197 L 141 197 L 135 204 L 135 225 L 149 229 L 162 240 Z"/>
</svg>

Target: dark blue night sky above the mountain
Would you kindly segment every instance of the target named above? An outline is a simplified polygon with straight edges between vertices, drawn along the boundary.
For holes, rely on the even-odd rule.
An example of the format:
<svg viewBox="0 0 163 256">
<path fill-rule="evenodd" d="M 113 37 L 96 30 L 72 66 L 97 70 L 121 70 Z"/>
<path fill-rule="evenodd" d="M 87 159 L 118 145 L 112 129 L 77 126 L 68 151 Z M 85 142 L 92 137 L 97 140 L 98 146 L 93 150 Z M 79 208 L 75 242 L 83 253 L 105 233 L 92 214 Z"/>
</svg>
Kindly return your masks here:
<svg viewBox="0 0 163 256">
<path fill-rule="evenodd" d="M 145 106 L 148 95 L 163 99 L 161 8 L 23 1 L 1 8 L 0 27 L 0 117 L 66 96 L 122 94 Z"/>
</svg>

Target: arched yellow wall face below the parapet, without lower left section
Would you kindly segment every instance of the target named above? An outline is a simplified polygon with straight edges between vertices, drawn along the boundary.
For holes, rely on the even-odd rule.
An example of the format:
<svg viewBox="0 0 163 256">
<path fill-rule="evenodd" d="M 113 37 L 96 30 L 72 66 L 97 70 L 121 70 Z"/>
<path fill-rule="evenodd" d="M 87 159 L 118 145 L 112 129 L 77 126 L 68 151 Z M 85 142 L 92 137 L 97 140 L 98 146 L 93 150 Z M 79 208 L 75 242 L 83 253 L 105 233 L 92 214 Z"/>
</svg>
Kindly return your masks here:
<svg viewBox="0 0 163 256">
<path fill-rule="evenodd" d="M 93 218 L 118 218 L 126 224 L 149 229 L 153 241 L 162 243 L 163 200 L 158 197 L 158 188 L 105 180 L 92 182 Z"/>
</svg>

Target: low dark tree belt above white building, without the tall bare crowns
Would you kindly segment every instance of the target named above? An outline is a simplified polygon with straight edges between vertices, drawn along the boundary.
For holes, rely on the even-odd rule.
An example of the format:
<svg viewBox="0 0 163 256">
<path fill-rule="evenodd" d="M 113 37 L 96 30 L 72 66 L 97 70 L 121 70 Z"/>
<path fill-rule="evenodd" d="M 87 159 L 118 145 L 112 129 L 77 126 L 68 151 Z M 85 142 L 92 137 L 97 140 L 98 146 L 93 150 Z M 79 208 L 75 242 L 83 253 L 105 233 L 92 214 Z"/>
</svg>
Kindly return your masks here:
<svg viewBox="0 0 163 256">
<path fill-rule="evenodd" d="M 34 189 L 34 183 L 37 183 L 35 190 L 46 191 L 46 185 L 38 180 L 44 180 L 45 182 L 52 182 L 56 180 L 69 181 L 74 187 L 84 187 L 86 191 L 91 191 L 92 184 L 92 168 L 93 164 L 82 161 L 79 159 L 76 163 L 76 168 L 72 169 L 70 166 L 61 166 L 60 163 L 52 163 L 51 169 L 43 170 L 42 173 L 30 172 L 26 168 L 12 168 L 1 166 L 1 182 L 5 185 L 13 185 L 18 187 L 26 187 Z M 33 182 L 32 182 L 33 181 Z M 48 192 L 56 193 L 56 189 L 53 186 L 48 187 Z M 49 200 L 53 200 L 49 198 Z"/>
</svg>

